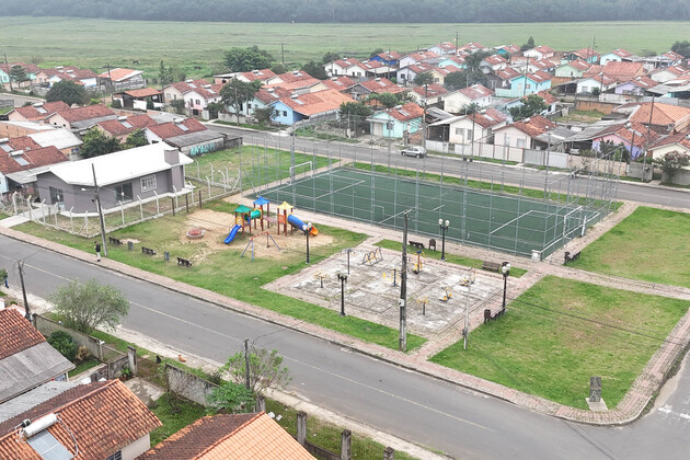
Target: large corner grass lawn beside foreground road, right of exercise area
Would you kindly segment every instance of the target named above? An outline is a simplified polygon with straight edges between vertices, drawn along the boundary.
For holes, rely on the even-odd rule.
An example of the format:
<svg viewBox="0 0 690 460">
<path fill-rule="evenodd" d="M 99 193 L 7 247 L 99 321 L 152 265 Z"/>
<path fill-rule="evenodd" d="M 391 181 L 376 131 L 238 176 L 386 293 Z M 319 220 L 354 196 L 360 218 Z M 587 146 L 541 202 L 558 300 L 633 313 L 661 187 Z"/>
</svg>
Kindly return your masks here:
<svg viewBox="0 0 690 460">
<path fill-rule="evenodd" d="M 689 306 L 548 276 L 432 361 L 580 409 L 600 376 L 614 407 Z"/>
</svg>

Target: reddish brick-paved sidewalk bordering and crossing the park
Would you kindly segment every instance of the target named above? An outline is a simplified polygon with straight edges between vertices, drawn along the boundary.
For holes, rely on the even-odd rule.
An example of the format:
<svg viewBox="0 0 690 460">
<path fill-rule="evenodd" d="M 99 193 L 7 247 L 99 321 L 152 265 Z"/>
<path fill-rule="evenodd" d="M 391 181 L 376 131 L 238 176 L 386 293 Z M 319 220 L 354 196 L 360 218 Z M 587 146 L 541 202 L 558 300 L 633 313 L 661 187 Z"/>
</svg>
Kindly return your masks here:
<svg viewBox="0 0 690 460">
<path fill-rule="evenodd" d="M 628 214 L 632 212 L 634 208 L 634 205 L 629 205 L 626 208 L 624 208 L 623 211 L 619 210 L 619 214 L 611 216 L 609 220 L 602 222 L 600 226 L 595 227 L 595 229 L 591 231 L 591 234 L 588 233 L 585 240 L 594 240 L 598 238 L 610 227 L 622 220 L 622 218 L 625 217 Z M 315 215 L 311 212 L 303 214 L 306 215 L 307 219 L 314 220 L 320 223 L 348 228 L 353 231 L 361 231 L 366 234 L 369 234 L 371 238 L 392 238 L 402 241 L 402 235 L 400 234 L 400 232 L 394 232 L 388 229 L 376 228 L 366 223 L 352 222 L 348 220 L 323 215 Z M 45 241 L 36 237 L 24 234 L 12 229 L 0 228 L 0 234 L 4 234 L 16 240 L 26 241 L 47 250 L 84 261 L 87 263 L 94 263 L 93 257 L 91 257 L 90 254 L 64 246 L 58 243 Z M 583 241 L 582 244 L 586 244 L 586 242 Z M 449 248 L 451 252 L 468 255 L 474 258 L 495 260 L 497 257 L 496 253 L 476 248 L 461 246 L 459 244 L 451 244 Z M 517 289 L 518 287 L 520 287 L 520 285 L 524 285 L 521 287 L 529 286 L 531 283 L 537 281 L 541 276 L 544 276 L 547 274 L 555 274 L 568 278 L 587 280 L 588 283 L 596 283 L 599 285 L 621 288 L 621 279 L 619 278 L 600 274 L 589 274 L 587 272 L 574 271 L 567 267 L 563 267 L 560 265 L 560 260 L 553 258 L 553 256 L 550 257 L 550 260 L 548 260 L 547 262 L 534 262 L 521 257 L 518 258 L 515 256 L 507 256 L 504 254 L 502 254 L 501 256 L 502 258 L 509 261 L 515 266 L 528 268 L 531 272 L 531 274 L 528 274 L 522 278 L 511 279 L 511 291 L 514 291 L 514 288 Z M 423 350 L 416 350 L 412 354 L 405 354 L 376 344 L 366 343 L 335 331 L 325 330 L 314 324 L 303 323 L 294 318 L 264 310 L 257 306 L 230 299 L 219 294 L 175 281 L 160 275 L 156 275 L 149 272 L 141 271 L 139 268 L 131 267 L 129 265 L 122 264 L 119 262 L 105 258 L 101 262 L 100 265 L 135 278 L 157 284 L 173 291 L 193 296 L 200 300 L 212 302 L 233 311 L 250 314 L 285 327 L 300 331 L 302 333 L 310 334 L 312 336 L 326 340 L 329 342 L 341 344 L 342 346 L 349 347 L 361 354 L 369 355 L 389 361 L 391 364 L 405 367 L 411 370 L 416 370 L 427 376 L 458 384 L 472 391 L 503 399 L 530 411 L 539 412 L 544 415 L 560 417 L 567 421 L 595 425 L 619 425 L 630 423 L 637 418 L 646 404 L 654 396 L 655 392 L 658 391 L 658 389 L 660 388 L 660 384 L 663 383 L 663 376 L 665 375 L 665 372 L 681 355 L 685 347 L 688 346 L 688 343 L 690 343 L 689 311 L 678 322 L 676 327 L 669 334 L 669 337 L 671 337 L 672 340 L 666 341 L 662 348 L 652 357 L 652 359 L 648 361 L 647 366 L 643 370 L 642 375 L 637 377 L 631 390 L 625 394 L 619 405 L 608 412 L 590 412 L 568 407 L 539 396 L 519 392 L 517 390 L 468 373 L 459 372 L 450 368 L 428 363 L 426 360 L 426 357 L 428 356 L 428 347 L 424 348 Z M 630 287 L 630 290 L 647 292 L 648 289 L 652 289 L 652 294 L 690 299 L 689 289 L 667 286 L 663 287 L 664 291 L 662 292 L 659 291 L 660 287 L 657 286 L 645 286 L 643 283 L 634 281 L 629 283 L 633 284 L 633 286 Z M 444 337 L 442 342 L 451 343 L 453 338 L 458 337 Z"/>
</svg>

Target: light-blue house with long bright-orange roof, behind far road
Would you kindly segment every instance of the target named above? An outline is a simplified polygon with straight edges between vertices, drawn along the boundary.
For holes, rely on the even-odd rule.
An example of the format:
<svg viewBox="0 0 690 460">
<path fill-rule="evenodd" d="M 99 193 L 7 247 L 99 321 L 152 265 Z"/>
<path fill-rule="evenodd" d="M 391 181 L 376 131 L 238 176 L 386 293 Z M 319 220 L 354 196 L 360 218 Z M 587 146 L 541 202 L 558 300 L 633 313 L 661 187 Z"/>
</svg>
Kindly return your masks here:
<svg viewBox="0 0 690 460">
<path fill-rule="evenodd" d="M 315 93 L 296 94 L 281 97 L 272 105 L 278 112 L 274 118 L 281 125 L 294 125 L 312 117 L 337 117 L 341 104 L 354 100 L 336 90 L 324 90 Z"/>
</svg>

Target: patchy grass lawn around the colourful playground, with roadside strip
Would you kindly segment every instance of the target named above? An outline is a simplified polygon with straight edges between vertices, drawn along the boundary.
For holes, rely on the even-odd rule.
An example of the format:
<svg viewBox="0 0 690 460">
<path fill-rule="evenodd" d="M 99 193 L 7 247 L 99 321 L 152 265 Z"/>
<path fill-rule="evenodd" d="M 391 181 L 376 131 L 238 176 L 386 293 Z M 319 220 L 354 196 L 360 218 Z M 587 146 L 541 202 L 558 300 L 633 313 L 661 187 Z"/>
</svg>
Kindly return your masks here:
<svg viewBox="0 0 690 460">
<path fill-rule="evenodd" d="M 225 211 L 234 209 L 234 207 L 237 205 L 230 205 L 225 202 L 204 205 L 206 209 L 222 209 Z M 142 245 L 154 248 L 159 254 L 163 251 L 169 251 L 171 258 L 175 256 L 184 258 L 203 256 L 203 262 L 195 263 L 191 269 L 180 268 L 174 263 L 164 262 L 160 256 L 143 256 L 138 251 L 138 248 L 130 252 L 126 246 L 110 246 L 108 256 L 141 269 L 206 288 L 367 342 L 398 349 L 398 330 L 355 317 L 341 317 L 334 310 L 262 289 L 263 285 L 274 279 L 302 269 L 304 267 L 304 258 L 301 252 L 286 252 L 278 260 L 256 258 L 254 262 L 251 262 L 250 257 L 240 258 L 240 254 L 245 245 L 243 241 L 246 242 L 245 237 L 239 237 L 237 244 L 223 251 L 211 251 L 206 244 L 183 244 L 180 242 L 180 234 L 187 229 L 185 220 L 185 214 L 177 214 L 175 217 L 166 216 L 116 231 L 111 233 L 111 235 L 120 239 L 137 239 Z M 228 220 L 232 220 L 231 215 L 228 217 Z M 85 252 L 92 252 L 93 250 L 91 240 L 73 237 L 65 232 L 57 232 L 34 222 L 24 223 L 15 229 Z M 313 248 L 311 251 L 312 263 L 318 263 L 331 254 L 340 252 L 342 249 L 355 246 L 366 239 L 365 234 L 347 230 L 325 226 L 319 226 L 319 229 L 322 234 L 333 237 L 334 242 L 329 246 Z M 421 346 L 424 342 L 425 340 L 419 336 L 412 334 L 407 336 L 410 350 Z"/>
</svg>

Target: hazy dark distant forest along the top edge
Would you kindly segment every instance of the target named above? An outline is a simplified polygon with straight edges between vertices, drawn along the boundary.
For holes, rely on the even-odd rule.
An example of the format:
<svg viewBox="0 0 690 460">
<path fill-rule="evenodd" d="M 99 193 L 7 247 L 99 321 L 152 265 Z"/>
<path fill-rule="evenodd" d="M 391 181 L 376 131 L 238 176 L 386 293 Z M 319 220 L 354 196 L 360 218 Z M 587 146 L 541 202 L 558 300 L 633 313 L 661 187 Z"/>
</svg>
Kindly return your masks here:
<svg viewBox="0 0 690 460">
<path fill-rule="evenodd" d="M 300 23 L 690 20 L 689 0 L 3 0 L 0 16 Z"/>
</svg>

